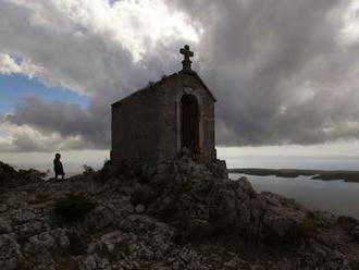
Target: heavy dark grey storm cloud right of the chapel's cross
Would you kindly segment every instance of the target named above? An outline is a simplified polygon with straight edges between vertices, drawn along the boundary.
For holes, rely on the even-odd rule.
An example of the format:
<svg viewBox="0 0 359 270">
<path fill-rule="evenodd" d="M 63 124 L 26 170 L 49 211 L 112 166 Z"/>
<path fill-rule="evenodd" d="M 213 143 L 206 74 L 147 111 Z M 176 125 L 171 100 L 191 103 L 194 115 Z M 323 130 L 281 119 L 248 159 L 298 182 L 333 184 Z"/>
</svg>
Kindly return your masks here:
<svg viewBox="0 0 359 270">
<path fill-rule="evenodd" d="M 173 3 L 205 27 L 198 50 L 220 100 L 220 144 L 359 137 L 358 44 L 341 40 L 349 1 Z"/>
</svg>

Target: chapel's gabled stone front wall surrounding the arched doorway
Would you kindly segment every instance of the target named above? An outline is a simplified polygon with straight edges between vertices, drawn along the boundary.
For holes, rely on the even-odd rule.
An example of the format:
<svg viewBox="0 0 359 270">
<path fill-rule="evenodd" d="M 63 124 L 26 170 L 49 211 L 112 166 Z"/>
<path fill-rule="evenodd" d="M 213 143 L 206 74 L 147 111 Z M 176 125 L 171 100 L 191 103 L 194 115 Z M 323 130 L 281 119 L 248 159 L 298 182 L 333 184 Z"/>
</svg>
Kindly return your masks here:
<svg viewBox="0 0 359 270">
<path fill-rule="evenodd" d="M 180 102 L 184 94 L 195 95 L 200 109 L 201 159 L 215 159 L 214 100 L 193 75 L 177 74 L 161 85 L 159 159 L 174 158 L 181 148 Z"/>
</svg>

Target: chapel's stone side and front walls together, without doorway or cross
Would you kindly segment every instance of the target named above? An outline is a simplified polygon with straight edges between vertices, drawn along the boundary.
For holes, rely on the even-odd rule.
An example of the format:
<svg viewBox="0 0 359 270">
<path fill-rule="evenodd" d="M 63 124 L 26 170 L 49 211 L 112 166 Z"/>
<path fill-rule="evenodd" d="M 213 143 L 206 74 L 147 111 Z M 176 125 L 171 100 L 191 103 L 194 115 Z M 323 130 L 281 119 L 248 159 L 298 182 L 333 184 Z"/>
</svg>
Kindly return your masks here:
<svg viewBox="0 0 359 270">
<path fill-rule="evenodd" d="M 201 161 L 215 159 L 214 100 L 198 78 L 171 75 L 112 106 L 111 160 L 158 162 L 181 150 L 181 97 L 197 98 Z"/>
</svg>

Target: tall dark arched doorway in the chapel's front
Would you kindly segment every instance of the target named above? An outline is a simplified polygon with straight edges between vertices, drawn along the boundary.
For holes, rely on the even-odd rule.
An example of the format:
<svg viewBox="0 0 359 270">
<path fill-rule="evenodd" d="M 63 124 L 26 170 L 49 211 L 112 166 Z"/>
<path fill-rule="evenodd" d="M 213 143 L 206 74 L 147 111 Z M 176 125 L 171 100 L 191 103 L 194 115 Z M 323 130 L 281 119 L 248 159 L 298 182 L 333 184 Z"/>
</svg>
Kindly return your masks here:
<svg viewBox="0 0 359 270">
<path fill-rule="evenodd" d="M 188 148 L 194 157 L 200 154 L 199 118 L 197 98 L 194 95 L 183 95 L 181 98 L 181 148 Z"/>
</svg>

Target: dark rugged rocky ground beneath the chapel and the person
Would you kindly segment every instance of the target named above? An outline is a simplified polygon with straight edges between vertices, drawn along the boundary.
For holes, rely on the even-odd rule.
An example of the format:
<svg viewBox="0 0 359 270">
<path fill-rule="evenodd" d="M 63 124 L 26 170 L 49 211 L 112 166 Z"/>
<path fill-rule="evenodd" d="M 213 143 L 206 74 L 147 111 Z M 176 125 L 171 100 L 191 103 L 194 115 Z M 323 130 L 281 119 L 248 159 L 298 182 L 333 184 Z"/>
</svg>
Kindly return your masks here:
<svg viewBox="0 0 359 270">
<path fill-rule="evenodd" d="M 0 269 L 359 269 L 359 222 L 256 193 L 225 163 L 107 163 L 63 182 L 0 163 Z"/>
</svg>

